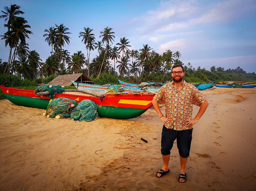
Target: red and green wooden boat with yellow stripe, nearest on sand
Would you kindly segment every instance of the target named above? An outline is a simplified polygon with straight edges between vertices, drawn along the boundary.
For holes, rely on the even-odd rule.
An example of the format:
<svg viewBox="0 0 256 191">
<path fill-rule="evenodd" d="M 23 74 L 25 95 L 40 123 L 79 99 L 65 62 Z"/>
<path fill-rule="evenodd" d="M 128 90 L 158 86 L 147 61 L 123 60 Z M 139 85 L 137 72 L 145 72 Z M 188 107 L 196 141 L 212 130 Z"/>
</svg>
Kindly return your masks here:
<svg viewBox="0 0 256 191">
<path fill-rule="evenodd" d="M 6 98 L 17 105 L 46 109 L 50 98 L 37 96 L 33 90 L 8 88 L 0 86 Z M 72 92 L 73 93 L 73 92 Z M 152 106 L 154 93 L 115 93 L 104 94 L 102 97 L 81 95 L 81 93 L 55 93 L 54 99 L 59 97 L 69 98 L 81 102 L 84 99 L 94 101 L 98 104 L 97 111 L 100 117 L 113 119 L 130 119 L 143 114 Z"/>
</svg>

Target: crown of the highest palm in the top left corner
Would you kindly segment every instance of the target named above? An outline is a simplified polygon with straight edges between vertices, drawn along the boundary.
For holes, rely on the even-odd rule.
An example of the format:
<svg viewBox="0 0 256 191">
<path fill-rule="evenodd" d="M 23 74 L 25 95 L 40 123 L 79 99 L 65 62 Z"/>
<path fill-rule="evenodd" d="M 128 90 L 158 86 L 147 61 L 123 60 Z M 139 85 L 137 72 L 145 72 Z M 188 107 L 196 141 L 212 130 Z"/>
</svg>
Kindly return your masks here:
<svg viewBox="0 0 256 191">
<path fill-rule="evenodd" d="M 8 20 L 8 26 L 11 26 L 12 22 L 17 18 L 17 15 L 24 14 L 24 12 L 20 10 L 20 6 L 17 6 L 17 4 L 11 4 L 10 7 L 6 6 L 4 7 L 4 10 L 6 11 L 1 11 L 3 15 L 1 15 L 0 18 L 5 18 L 5 22 Z"/>
</svg>

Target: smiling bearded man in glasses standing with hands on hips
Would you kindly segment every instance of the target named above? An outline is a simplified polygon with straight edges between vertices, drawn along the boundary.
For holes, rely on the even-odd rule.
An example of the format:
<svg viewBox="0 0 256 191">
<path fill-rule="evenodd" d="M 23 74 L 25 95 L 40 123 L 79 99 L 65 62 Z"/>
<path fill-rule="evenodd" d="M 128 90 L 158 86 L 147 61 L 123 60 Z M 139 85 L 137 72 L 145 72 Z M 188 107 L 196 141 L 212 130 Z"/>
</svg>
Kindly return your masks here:
<svg viewBox="0 0 256 191">
<path fill-rule="evenodd" d="M 209 105 L 203 94 L 192 84 L 184 81 L 183 77 L 183 66 L 175 64 L 172 67 L 173 82 L 162 86 L 152 100 L 159 118 L 164 123 L 161 139 L 163 167 L 157 171 L 156 177 L 160 178 L 170 172 L 168 163 L 173 143 L 177 139 L 181 165 L 179 182 L 185 182 L 187 179 L 185 167 L 190 153 L 193 125 L 198 122 Z M 159 103 L 165 103 L 165 116 L 159 108 Z M 193 104 L 198 105 L 200 109 L 192 119 Z"/>
</svg>

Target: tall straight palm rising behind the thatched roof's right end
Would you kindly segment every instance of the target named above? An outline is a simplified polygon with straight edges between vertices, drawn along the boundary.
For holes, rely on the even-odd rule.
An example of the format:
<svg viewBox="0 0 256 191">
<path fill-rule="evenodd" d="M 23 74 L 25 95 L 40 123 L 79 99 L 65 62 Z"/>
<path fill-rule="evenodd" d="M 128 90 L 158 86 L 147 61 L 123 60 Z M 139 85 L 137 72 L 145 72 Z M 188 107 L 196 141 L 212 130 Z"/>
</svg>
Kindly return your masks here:
<svg viewBox="0 0 256 191">
<path fill-rule="evenodd" d="M 84 42 L 85 46 L 86 46 L 86 50 L 87 50 L 87 68 L 88 68 L 88 76 L 89 76 L 89 52 L 88 52 L 88 49 L 89 51 L 91 50 L 94 50 L 94 34 L 92 34 L 91 32 L 93 31 L 93 29 L 90 29 L 89 27 L 85 28 L 84 27 L 84 31 L 83 32 L 80 32 L 79 34 L 79 38 L 82 37 L 82 42 Z"/>
</svg>

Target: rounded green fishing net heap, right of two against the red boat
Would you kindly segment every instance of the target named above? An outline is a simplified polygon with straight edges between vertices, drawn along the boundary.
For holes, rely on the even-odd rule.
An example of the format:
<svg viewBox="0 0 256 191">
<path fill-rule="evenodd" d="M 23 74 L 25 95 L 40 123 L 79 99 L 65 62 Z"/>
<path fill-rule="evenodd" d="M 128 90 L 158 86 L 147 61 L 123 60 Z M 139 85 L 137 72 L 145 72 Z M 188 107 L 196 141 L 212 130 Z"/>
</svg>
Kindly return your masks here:
<svg viewBox="0 0 256 191">
<path fill-rule="evenodd" d="M 99 118 L 97 104 L 91 100 L 81 101 L 71 112 L 71 119 L 79 121 L 92 121 Z"/>
</svg>

